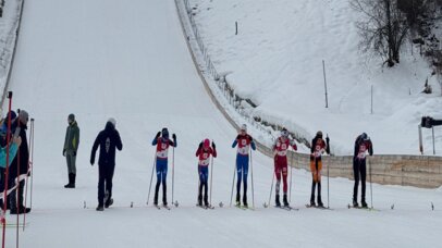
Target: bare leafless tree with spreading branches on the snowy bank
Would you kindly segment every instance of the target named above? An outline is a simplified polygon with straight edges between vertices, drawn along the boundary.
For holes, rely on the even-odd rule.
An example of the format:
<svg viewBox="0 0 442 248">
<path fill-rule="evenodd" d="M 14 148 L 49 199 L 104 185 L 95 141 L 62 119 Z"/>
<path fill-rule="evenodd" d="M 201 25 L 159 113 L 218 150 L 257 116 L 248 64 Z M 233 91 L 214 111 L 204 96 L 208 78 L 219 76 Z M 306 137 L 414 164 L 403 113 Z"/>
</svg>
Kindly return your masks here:
<svg viewBox="0 0 442 248">
<path fill-rule="evenodd" d="M 365 20 L 356 23 L 363 37 L 363 51 L 375 50 L 390 67 L 400 63 L 402 45 L 408 35 L 407 17 L 397 8 L 396 0 L 351 0 Z"/>
</svg>

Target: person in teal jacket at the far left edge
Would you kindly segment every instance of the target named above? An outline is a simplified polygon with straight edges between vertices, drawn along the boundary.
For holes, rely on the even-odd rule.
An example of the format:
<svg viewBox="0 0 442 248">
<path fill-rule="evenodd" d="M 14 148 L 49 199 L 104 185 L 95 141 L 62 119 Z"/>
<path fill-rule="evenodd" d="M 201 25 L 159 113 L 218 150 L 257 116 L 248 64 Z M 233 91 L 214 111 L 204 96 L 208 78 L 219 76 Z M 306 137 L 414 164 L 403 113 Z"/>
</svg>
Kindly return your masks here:
<svg viewBox="0 0 442 248">
<path fill-rule="evenodd" d="M 5 183 L 5 169 L 7 166 L 10 166 L 13 159 L 16 156 L 16 152 L 19 150 L 20 145 L 22 144 L 22 138 L 19 137 L 12 137 L 10 136 L 10 147 L 9 147 L 9 162 L 7 164 L 7 157 L 8 157 L 8 116 L 4 119 L 3 125 L 1 125 L 0 128 L 0 194 L 2 194 L 0 197 L 3 197 L 4 194 L 4 183 Z M 14 111 L 11 111 L 11 121 L 13 121 L 16 117 L 16 114 Z M 12 142 L 11 142 L 12 141 Z M 7 198 L 9 199 L 9 198 Z M 3 199 L 0 199 L 0 208 L 3 209 L 3 202 L 7 202 L 7 209 L 10 209 L 10 204 L 8 204 L 8 200 L 3 201 Z"/>
</svg>

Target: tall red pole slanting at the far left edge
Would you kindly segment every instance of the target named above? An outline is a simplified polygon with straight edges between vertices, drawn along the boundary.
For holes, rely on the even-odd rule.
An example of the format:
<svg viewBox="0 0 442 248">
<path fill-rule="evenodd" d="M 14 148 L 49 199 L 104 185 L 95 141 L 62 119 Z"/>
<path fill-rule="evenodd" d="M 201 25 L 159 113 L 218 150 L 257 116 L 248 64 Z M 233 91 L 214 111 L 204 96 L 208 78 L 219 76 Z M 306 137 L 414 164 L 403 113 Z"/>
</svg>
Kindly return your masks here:
<svg viewBox="0 0 442 248">
<path fill-rule="evenodd" d="M 11 136 L 11 104 L 12 104 L 12 91 L 8 92 L 9 98 L 9 112 L 8 112 L 8 131 L 7 131 L 7 169 L 4 173 L 4 194 L 3 194 L 3 212 L 1 214 L 1 224 L 3 224 L 3 232 L 2 232 L 2 245 L 1 247 L 4 248 L 4 243 L 7 239 L 7 204 L 8 202 L 8 179 L 9 179 L 9 149 L 10 149 L 10 136 Z"/>
</svg>

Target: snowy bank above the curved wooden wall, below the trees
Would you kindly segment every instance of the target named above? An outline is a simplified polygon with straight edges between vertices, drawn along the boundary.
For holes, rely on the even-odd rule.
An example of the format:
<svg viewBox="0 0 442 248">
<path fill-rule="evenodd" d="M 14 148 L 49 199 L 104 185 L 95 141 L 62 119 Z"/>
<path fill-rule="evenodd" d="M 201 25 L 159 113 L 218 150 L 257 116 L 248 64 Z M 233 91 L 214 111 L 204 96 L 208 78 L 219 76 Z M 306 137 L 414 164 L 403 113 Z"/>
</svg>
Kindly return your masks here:
<svg viewBox="0 0 442 248">
<path fill-rule="evenodd" d="M 406 45 L 407 54 L 393 69 L 360 54 L 355 22 L 363 16 L 348 1 L 189 2 L 214 66 L 228 75 L 235 94 L 258 104 L 253 114 L 308 140 L 321 129 L 330 135 L 336 154 L 349 154 L 363 132 L 373 140 L 376 153 L 418 154 L 420 117 L 442 117 L 440 85 L 419 50 L 414 48 L 410 55 Z M 420 94 L 427 77 L 432 95 Z M 440 127 L 435 134 L 442 154 Z M 425 129 L 423 139 L 426 153 L 432 154 L 431 132 Z"/>
</svg>

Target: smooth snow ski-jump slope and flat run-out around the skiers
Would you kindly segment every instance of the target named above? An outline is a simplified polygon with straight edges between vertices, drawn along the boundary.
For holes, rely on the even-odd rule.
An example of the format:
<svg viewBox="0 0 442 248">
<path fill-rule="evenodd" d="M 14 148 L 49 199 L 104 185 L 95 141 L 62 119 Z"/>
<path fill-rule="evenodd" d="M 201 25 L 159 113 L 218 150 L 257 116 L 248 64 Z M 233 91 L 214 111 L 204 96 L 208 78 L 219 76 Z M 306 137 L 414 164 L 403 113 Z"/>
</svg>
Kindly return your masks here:
<svg viewBox="0 0 442 248">
<path fill-rule="evenodd" d="M 198 77 L 172 0 L 26 1 L 12 73 L 13 108 L 35 117 L 33 211 L 21 247 L 434 247 L 442 224 L 442 193 L 373 185 L 380 211 L 348 210 L 353 184 L 330 181 L 332 211 L 305 209 L 310 175 L 293 171 L 292 204 L 265 209 L 272 160 L 253 153 L 256 211 L 195 207 L 202 138 L 213 139 L 212 203 L 229 206 L 236 132 L 214 108 Z M 62 157 L 69 113 L 81 128 L 75 189 Z M 114 204 L 97 204 L 93 141 L 116 119 L 123 150 L 116 154 Z M 146 207 L 155 134 L 177 135 L 171 211 Z M 171 201 L 171 162 L 169 201 Z M 324 181 L 327 178 L 323 178 Z M 327 186 L 323 183 L 323 200 Z M 251 189 L 251 187 L 249 188 Z M 368 191 L 369 193 L 369 191 Z M 251 194 L 249 191 L 251 203 Z M 435 211 L 430 210 L 433 202 Z M 128 206 L 133 202 L 134 208 Z M 84 209 L 86 203 L 86 209 Z M 392 204 L 395 210 L 390 210 Z M 15 216 L 8 215 L 8 222 Z M 8 228 L 7 247 L 15 247 Z"/>
</svg>

